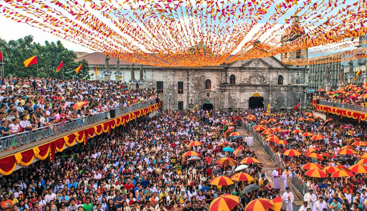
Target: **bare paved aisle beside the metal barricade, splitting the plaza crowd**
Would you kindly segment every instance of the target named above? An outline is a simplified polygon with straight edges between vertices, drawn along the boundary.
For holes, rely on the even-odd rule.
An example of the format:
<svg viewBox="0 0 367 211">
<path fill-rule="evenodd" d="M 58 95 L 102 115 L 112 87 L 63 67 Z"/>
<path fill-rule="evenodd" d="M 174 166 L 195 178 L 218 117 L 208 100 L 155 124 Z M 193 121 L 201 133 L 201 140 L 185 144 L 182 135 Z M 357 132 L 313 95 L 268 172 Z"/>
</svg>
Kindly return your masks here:
<svg viewBox="0 0 367 211">
<path fill-rule="evenodd" d="M 245 134 L 247 134 L 247 131 L 244 129 L 240 129 L 238 131 L 244 136 Z M 258 160 L 264 165 L 263 169 L 265 170 L 267 179 L 273 185 L 272 173 L 275 169 L 275 164 L 269 159 L 268 155 L 264 152 L 264 150 L 261 148 L 261 146 L 255 139 L 254 139 L 254 146 L 250 146 L 250 150 L 255 151 Z M 280 182 L 280 192 L 283 195 L 284 193 L 283 181 Z M 303 204 L 303 196 L 301 198 L 299 194 L 295 192 L 295 190 L 293 190 L 293 193 L 294 193 L 293 211 L 298 211 L 299 207 Z"/>
</svg>

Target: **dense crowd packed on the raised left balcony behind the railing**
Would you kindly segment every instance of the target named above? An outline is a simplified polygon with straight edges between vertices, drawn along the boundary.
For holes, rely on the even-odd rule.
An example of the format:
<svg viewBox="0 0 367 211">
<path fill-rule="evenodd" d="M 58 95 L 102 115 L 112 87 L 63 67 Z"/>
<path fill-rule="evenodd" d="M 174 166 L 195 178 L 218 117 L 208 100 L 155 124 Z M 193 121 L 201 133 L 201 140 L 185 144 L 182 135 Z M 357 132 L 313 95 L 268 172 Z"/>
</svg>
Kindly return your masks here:
<svg viewBox="0 0 367 211">
<path fill-rule="evenodd" d="M 37 77 L 0 78 L 0 95 L 2 137 L 156 98 L 155 90 L 130 89 L 121 81 Z"/>
</svg>

